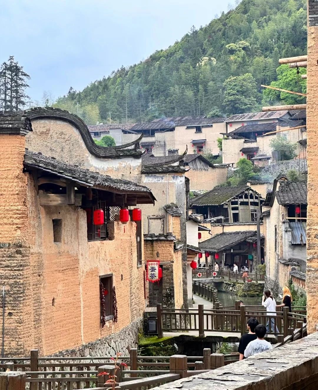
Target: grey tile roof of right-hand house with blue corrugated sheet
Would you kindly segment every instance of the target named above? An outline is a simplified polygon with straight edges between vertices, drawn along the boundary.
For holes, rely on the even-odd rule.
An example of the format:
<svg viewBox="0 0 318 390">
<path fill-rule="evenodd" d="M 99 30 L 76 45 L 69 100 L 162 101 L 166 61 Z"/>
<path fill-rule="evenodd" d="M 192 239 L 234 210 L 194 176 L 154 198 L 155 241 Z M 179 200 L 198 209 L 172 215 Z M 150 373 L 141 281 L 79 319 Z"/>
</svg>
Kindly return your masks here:
<svg viewBox="0 0 318 390">
<path fill-rule="evenodd" d="M 307 204 L 307 183 L 283 182 L 275 195 L 279 204 Z"/>
</svg>

